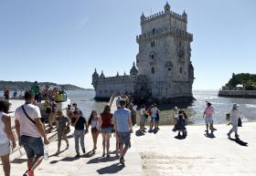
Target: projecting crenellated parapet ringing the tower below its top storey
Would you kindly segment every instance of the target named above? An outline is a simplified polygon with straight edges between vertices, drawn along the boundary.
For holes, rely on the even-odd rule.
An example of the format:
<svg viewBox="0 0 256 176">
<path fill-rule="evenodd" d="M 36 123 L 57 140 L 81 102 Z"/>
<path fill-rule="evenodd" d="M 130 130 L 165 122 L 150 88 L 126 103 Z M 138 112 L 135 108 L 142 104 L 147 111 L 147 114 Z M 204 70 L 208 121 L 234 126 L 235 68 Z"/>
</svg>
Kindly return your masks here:
<svg viewBox="0 0 256 176">
<path fill-rule="evenodd" d="M 178 29 L 178 28 L 176 28 L 174 26 L 171 26 L 167 30 L 165 30 L 165 29 L 158 29 L 157 31 L 155 31 L 155 33 L 149 32 L 149 33 L 145 33 L 143 35 L 136 36 L 136 40 L 137 40 L 137 42 L 139 42 L 139 40 L 141 40 L 141 39 L 150 38 L 152 36 L 168 35 L 169 33 L 176 34 L 176 35 L 179 35 L 179 36 L 187 37 L 191 41 L 193 40 L 193 35 L 192 34 L 186 32 L 186 31 L 183 31 L 181 29 Z"/>
</svg>

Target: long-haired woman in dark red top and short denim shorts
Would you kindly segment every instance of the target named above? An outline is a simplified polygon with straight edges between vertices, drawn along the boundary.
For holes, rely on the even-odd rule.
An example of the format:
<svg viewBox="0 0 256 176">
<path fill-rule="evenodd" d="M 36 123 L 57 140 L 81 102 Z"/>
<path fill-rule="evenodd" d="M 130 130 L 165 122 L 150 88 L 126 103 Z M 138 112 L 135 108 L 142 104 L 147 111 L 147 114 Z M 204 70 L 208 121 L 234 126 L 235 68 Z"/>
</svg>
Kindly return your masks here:
<svg viewBox="0 0 256 176">
<path fill-rule="evenodd" d="M 105 151 L 107 150 L 107 157 L 110 157 L 110 138 L 112 134 L 112 113 L 111 106 L 106 105 L 101 113 L 101 135 L 102 135 L 102 157 L 105 157 Z"/>
</svg>

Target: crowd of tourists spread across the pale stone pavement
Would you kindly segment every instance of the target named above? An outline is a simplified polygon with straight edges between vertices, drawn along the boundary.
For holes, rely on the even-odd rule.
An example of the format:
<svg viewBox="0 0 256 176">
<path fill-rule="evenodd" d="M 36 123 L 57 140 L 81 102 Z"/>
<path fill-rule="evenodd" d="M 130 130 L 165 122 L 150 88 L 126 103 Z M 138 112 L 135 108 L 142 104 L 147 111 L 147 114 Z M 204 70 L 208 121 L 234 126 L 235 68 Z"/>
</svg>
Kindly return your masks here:
<svg viewBox="0 0 256 176">
<path fill-rule="evenodd" d="M 37 87 L 37 84 L 35 84 Z M 58 90 L 54 90 L 57 95 Z M 27 171 L 24 176 L 33 176 L 37 166 L 44 158 L 44 146 L 48 145 L 47 132 L 41 120 L 41 113 L 35 102 L 39 99 L 37 88 L 32 88 L 32 91 L 26 91 L 25 104 L 16 109 L 15 124 L 18 144 L 23 146 L 27 153 Z M 117 109 L 114 113 L 111 112 L 111 106 L 106 105 L 100 114 L 96 110 L 91 111 L 91 116 L 88 120 L 83 116 L 82 111 L 78 108 L 77 103 L 69 105 L 67 116 L 62 113 L 62 109 L 57 108 L 56 102 L 46 96 L 45 110 L 48 114 L 49 128 L 53 129 L 56 125 L 58 131 L 58 155 L 61 147 L 61 140 L 66 141 L 65 150 L 69 149 L 68 134 L 70 126 L 74 127 L 73 138 L 75 140 L 76 158 L 80 157 L 80 148 L 83 153 L 86 153 L 84 135 L 89 132 L 91 127 L 91 138 L 93 141 L 92 152 L 96 152 L 98 148 L 97 140 L 101 134 L 102 138 L 102 157 L 110 158 L 110 138 L 115 137 L 115 155 L 119 158 L 120 163 L 124 165 L 124 157 L 131 147 L 131 133 L 133 133 L 133 125 L 136 124 L 136 119 L 139 119 L 139 130 L 146 132 L 145 124 L 149 123 L 149 131 L 159 129 L 160 110 L 156 104 L 153 104 L 148 109 L 144 105 L 139 110 L 139 116 L 136 116 L 136 107 L 133 106 L 132 99 L 126 96 L 120 96 L 116 100 Z M 36 100 L 37 98 L 37 100 Z M 135 108 L 134 108 L 135 107 Z M 10 117 L 7 115 L 9 103 L 5 100 L 0 100 L 0 156 L 3 162 L 5 176 L 10 175 L 10 146 L 16 148 L 16 141 L 11 130 Z M 206 123 L 206 132 L 210 129 L 213 133 L 213 113 L 214 109 L 210 102 L 207 102 L 207 108 L 203 113 L 203 118 Z M 178 138 L 187 137 L 187 114 L 184 110 L 175 107 L 171 116 L 175 120 L 173 131 L 177 131 Z M 233 105 L 230 113 L 230 124 L 232 129 L 227 134 L 230 138 L 232 132 L 235 137 L 238 135 L 238 121 L 240 118 L 240 110 L 237 104 Z"/>
</svg>

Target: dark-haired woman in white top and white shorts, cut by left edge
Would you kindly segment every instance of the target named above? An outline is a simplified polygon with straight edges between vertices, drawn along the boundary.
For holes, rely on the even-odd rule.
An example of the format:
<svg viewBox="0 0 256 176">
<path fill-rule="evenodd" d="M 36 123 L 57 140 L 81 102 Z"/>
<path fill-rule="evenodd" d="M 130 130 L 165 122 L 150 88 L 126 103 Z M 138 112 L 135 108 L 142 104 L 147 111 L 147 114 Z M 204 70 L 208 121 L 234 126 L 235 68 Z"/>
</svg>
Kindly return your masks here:
<svg viewBox="0 0 256 176">
<path fill-rule="evenodd" d="M 12 147 L 16 147 L 16 141 L 11 129 L 11 119 L 6 114 L 9 111 L 9 103 L 0 100 L 0 157 L 3 162 L 3 169 L 5 176 L 10 176 L 10 140 Z"/>
</svg>

